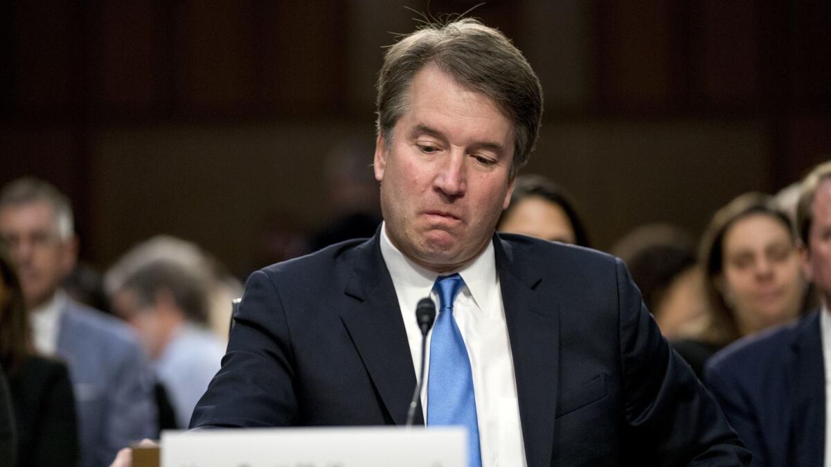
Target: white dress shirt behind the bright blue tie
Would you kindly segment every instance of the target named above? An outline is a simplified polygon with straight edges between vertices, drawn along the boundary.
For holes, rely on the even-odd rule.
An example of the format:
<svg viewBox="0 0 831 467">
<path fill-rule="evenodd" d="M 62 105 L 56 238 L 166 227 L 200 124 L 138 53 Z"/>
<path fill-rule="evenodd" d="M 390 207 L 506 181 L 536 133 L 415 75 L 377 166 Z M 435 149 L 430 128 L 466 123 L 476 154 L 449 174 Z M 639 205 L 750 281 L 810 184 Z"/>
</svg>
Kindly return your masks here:
<svg viewBox="0 0 831 467">
<path fill-rule="evenodd" d="M 421 268 L 406 258 L 387 237 L 386 224 L 381 226 L 381 256 L 396 288 L 417 378 L 421 363 L 421 332 L 416 323 L 416 304 L 421 298 L 430 297 L 436 303 L 436 309 L 439 308 L 439 297 L 432 292 L 439 274 Z M 484 252 L 465 267 L 442 275 L 452 273 L 459 273 L 466 286 L 455 299 L 453 317 L 465 339 L 473 372 L 482 467 L 522 467 L 526 465 L 525 450 L 519 423 L 514 361 L 493 243 L 488 243 Z M 428 349 L 431 334 L 432 331 L 427 336 Z M 421 406 L 426 410 L 429 410 L 430 404 L 427 401 L 429 373 L 428 350 L 421 391 Z"/>
</svg>

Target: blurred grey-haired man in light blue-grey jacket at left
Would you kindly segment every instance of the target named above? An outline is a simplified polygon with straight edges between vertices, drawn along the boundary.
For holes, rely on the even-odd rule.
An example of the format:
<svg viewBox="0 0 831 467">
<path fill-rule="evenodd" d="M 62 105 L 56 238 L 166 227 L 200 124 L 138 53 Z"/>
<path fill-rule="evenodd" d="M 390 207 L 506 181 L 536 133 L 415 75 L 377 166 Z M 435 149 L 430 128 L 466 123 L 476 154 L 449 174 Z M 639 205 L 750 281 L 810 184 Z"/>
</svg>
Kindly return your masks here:
<svg viewBox="0 0 831 467">
<path fill-rule="evenodd" d="M 0 192 L 0 238 L 17 268 L 34 348 L 69 366 L 81 465 L 106 465 L 121 446 L 156 433 L 152 373 L 129 327 L 61 290 L 77 259 L 72 224 L 71 204 L 52 184 L 17 179 Z"/>
</svg>

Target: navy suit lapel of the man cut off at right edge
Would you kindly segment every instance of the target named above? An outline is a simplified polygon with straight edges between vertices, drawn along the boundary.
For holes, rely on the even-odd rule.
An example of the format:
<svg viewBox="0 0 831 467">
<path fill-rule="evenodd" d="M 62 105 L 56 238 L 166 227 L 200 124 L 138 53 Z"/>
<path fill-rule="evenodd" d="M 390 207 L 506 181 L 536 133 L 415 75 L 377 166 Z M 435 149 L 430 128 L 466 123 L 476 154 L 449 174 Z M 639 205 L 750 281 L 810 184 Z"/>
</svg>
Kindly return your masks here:
<svg viewBox="0 0 831 467">
<path fill-rule="evenodd" d="M 794 465 L 822 465 L 825 445 L 825 368 L 819 312 L 805 318 L 791 346 L 789 387 L 794 397 L 790 444 Z"/>
</svg>

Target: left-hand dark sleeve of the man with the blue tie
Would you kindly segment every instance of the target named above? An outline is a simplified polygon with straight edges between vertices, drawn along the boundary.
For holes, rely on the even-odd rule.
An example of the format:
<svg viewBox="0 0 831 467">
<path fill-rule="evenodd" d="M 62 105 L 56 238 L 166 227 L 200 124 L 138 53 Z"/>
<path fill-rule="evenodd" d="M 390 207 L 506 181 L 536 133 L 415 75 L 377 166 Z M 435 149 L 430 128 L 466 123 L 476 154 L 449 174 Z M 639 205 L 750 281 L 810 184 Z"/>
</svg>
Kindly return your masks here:
<svg viewBox="0 0 831 467">
<path fill-rule="evenodd" d="M 262 271 L 248 278 L 222 368 L 190 428 L 295 425 L 293 354 L 283 303 Z"/>
</svg>

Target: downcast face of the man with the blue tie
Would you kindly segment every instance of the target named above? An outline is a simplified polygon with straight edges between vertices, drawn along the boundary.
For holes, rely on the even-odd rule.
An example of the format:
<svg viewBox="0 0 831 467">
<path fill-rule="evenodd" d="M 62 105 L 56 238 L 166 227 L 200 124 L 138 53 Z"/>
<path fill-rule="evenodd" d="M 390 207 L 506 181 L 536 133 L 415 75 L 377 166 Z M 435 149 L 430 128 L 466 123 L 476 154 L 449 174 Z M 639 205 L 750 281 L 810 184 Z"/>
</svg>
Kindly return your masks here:
<svg viewBox="0 0 831 467">
<path fill-rule="evenodd" d="M 510 201 L 514 125 L 494 101 L 434 66 L 419 71 L 390 149 L 378 137 L 386 233 L 408 258 L 445 272 L 481 252 Z"/>
</svg>

